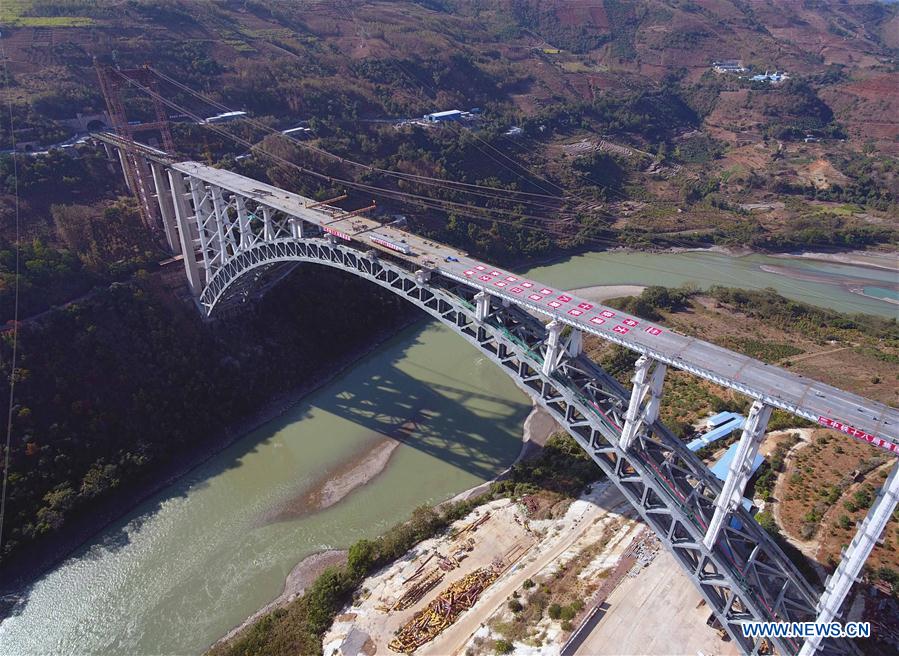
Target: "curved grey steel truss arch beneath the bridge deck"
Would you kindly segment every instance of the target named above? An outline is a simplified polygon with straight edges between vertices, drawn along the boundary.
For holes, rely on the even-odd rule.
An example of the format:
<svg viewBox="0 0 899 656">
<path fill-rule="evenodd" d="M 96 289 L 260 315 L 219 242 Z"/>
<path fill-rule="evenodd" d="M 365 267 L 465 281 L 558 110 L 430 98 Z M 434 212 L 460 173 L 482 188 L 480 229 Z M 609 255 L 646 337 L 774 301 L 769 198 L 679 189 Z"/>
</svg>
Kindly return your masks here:
<svg viewBox="0 0 899 656">
<path fill-rule="evenodd" d="M 813 621 L 818 595 L 768 534 L 742 507 L 707 547 L 703 538 L 720 482 L 661 423 L 653 422 L 619 446 L 629 392 L 583 355 L 564 354 L 551 374 L 541 370 L 547 328 L 518 307 L 488 299 L 478 320 L 479 290 L 443 276 L 429 281 L 392 260 L 370 257 L 331 240 L 280 238 L 238 249 L 203 290 L 207 314 L 232 297 L 238 283 L 278 263 L 335 267 L 390 289 L 441 320 L 493 360 L 544 407 L 590 455 L 672 552 L 731 638 L 747 654 L 762 642 L 744 638 L 745 621 Z M 245 289 L 241 293 L 245 293 Z M 483 301 L 481 301 L 483 303 Z M 486 313 L 485 313 L 486 312 Z M 774 639 L 780 653 L 796 654 L 802 641 Z M 822 653 L 854 653 L 828 640 Z"/>
</svg>

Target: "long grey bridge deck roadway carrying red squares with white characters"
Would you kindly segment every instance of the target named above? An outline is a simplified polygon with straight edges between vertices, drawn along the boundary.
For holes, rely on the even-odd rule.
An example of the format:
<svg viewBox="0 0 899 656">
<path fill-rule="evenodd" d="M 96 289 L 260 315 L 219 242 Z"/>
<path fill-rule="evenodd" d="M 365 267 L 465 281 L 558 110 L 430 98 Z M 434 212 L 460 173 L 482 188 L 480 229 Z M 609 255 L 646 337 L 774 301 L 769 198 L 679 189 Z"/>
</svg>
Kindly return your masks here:
<svg viewBox="0 0 899 656">
<path fill-rule="evenodd" d="M 430 268 L 439 275 L 507 299 L 532 313 L 545 315 L 583 332 L 598 335 L 774 407 L 899 454 L 899 411 L 882 403 L 810 380 L 695 337 L 682 335 L 620 310 L 592 303 L 564 290 L 476 261 L 450 246 L 430 242 L 397 228 L 382 226 L 364 216 L 335 220 L 342 210 L 330 207 L 309 209 L 306 205 L 315 201 L 237 173 L 196 162 L 181 162 L 172 165 L 172 168 L 253 198 L 309 223 L 338 230 L 347 240 L 385 251 L 392 257 L 404 259 L 418 267 Z M 391 240 L 407 244 L 413 253 L 403 255 L 370 242 L 367 233 L 374 230 Z"/>
</svg>

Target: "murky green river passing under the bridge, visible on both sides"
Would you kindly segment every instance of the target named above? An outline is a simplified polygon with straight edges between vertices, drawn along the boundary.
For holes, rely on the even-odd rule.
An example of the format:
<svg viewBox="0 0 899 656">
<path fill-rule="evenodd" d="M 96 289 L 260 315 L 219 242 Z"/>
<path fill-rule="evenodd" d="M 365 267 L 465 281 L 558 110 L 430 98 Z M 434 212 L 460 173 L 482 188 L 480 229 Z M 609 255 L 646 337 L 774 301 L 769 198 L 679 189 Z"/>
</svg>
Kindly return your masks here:
<svg viewBox="0 0 899 656">
<path fill-rule="evenodd" d="M 844 284 L 864 279 L 891 298 L 895 272 L 808 260 L 586 254 L 529 275 L 563 288 L 775 287 L 816 305 L 896 315 Z M 306 555 L 375 536 L 417 505 L 493 477 L 517 455 L 528 411 L 511 379 L 448 329 L 413 326 L 36 581 L 0 624 L 0 654 L 200 653 L 277 596 Z M 400 425 L 412 428 L 380 476 L 325 510 L 272 519 Z"/>
</svg>

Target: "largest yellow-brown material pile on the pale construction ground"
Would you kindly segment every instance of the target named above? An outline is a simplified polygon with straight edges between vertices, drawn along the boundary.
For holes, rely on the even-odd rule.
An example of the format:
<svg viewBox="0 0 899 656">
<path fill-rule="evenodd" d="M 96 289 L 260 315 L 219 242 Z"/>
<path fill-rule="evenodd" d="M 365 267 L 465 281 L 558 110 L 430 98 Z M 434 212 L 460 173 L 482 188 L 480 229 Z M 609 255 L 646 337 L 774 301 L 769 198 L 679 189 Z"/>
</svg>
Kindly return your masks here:
<svg viewBox="0 0 899 656">
<path fill-rule="evenodd" d="M 452 583 L 434 601 L 412 616 L 388 647 L 400 654 L 415 651 L 436 638 L 459 615 L 474 606 L 481 593 L 499 578 L 500 569 L 482 567 Z"/>
</svg>

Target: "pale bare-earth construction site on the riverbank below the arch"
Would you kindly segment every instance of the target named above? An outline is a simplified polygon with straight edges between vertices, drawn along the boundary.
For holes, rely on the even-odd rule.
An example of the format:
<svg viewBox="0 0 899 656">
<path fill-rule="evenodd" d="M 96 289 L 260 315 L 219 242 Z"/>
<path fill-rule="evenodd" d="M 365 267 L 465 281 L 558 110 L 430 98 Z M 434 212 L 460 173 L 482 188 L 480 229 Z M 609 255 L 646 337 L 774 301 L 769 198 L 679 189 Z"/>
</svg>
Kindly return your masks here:
<svg viewBox="0 0 899 656">
<path fill-rule="evenodd" d="M 706 625 L 699 594 L 670 557 L 659 557 L 658 540 L 614 488 L 597 485 L 561 516 L 535 519 L 545 503 L 537 495 L 487 503 L 369 577 L 325 635 L 324 653 L 595 653 L 604 624 L 612 635 L 639 633 L 632 620 L 646 610 L 640 605 L 662 599 L 669 607 L 665 595 L 633 594 L 659 585 L 689 599 L 660 609 L 654 617 L 668 619 L 655 620 L 653 631 L 670 622 L 704 653 L 736 653 Z M 645 641 L 629 636 L 628 644 Z"/>
</svg>

